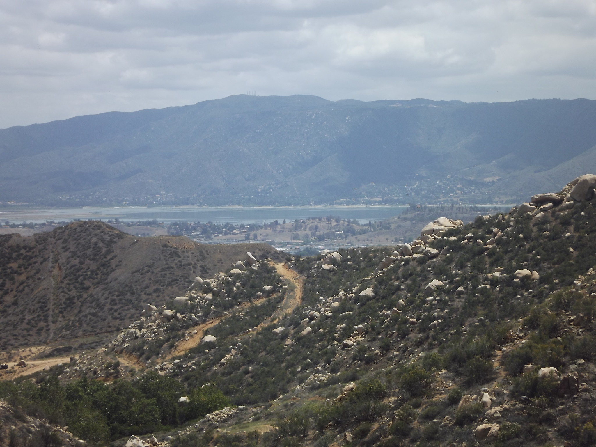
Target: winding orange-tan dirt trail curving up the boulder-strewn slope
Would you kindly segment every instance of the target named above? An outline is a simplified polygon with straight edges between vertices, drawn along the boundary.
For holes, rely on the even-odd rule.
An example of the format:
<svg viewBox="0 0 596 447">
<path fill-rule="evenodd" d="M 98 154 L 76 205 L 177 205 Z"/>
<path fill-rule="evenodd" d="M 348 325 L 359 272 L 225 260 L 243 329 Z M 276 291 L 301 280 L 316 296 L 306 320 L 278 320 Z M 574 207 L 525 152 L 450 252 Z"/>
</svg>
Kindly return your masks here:
<svg viewBox="0 0 596 447">
<path fill-rule="evenodd" d="M 285 294 L 285 298 L 281 303 L 280 308 L 275 311 L 273 315 L 265 318 L 265 320 L 252 331 L 250 331 L 250 333 L 259 331 L 263 326 L 271 324 L 272 322 L 280 321 L 280 319 L 283 318 L 286 313 L 293 311 L 294 308 L 302 304 L 304 278 L 300 276 L 298 272 L 288 268 L 287 264 L 285 263 L 276 263 L 274 266 L 278 274 L 285 278 L 288 291 Z M 258 300 L 254 300 L 252 303 L 243 303 L 239 306 L 240 311 L 243 311 L 250 306 L 260 305 L 260 303 L 263 303 L 268 299 L 269 298 L 267 297 L 263 297 Z M 184 339 L 176 343 L 172 350 L 170 350 L 170 352 L 167 354 L 165 359 L 171 359 L 176 355 L 181 355 L 182 353 L 187 352 L 187 350 L 197 346 L 201 339 L 203 339 L 203 334 L 207 329 L 219 324 L 221 321 L 228 318 L 229 315 L 230 314 L 227 313 L 219 316 L 218 318 L 213 318 L 207 322 L 188 328 L 188 330 L 185 331 L 187 333 L 188 340 Z M 197 333 L 193 334 L 194 331 L 197 331 Z"/>
</svg>

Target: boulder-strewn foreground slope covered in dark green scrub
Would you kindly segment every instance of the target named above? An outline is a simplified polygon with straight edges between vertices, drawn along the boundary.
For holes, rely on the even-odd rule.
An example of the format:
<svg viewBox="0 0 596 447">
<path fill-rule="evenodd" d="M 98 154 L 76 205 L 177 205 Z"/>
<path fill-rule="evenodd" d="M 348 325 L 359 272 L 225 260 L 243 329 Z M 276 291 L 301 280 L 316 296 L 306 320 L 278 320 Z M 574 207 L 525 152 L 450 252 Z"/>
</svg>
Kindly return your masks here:
<svg viewBox="0 0 596 447">
<path fill-rule="evenodd" d="M 174 446 L 593 445 L 595 185 L 578 178 L 468 225 L 437 219 L 402 246 L 295 259 L 305 282 L 287 314 L 276 312 L 291 284 L 247 258 L 195 280 L 176 303 L 145 306 L 100 352 L 33 379 L 65 396 L 80 390 L 101 427 L 77 430 L 113 439 L 128 430 Z M 0 395 L 48 414 L 60 399 L 37 389 L 14 380 Z M 107 394 L 156 399 L 159 415 L 127 429 L 124 413 L 94 403 Z"/>
</svg>

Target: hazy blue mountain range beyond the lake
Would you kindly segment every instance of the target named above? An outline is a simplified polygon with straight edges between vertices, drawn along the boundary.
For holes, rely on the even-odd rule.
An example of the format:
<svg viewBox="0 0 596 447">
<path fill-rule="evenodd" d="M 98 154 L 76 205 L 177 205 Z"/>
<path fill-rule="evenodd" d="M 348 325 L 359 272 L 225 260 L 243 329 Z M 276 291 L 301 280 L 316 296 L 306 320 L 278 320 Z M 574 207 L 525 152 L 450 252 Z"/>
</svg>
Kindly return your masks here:
<svg viewBox="0 0 596 447">
<path fill-rule="evenodd" d="M 504 202 L 596 172 L 596 101 L 237 95 L 0 129 L 0 201 Z"/>
</svg>

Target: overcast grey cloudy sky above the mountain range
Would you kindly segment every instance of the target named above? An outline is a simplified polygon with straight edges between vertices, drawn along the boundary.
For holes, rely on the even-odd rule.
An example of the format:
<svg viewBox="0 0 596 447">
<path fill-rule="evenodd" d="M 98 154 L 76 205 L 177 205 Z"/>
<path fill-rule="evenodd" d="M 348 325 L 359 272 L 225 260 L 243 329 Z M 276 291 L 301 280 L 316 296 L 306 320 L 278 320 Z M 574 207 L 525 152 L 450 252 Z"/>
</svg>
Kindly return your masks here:
<svg viewBox="0 0 596 447">
<path fill-rule="evenodd" d="M 256 91 L 596 99 L 596 0 L 0 0 L 0 128 Z"/>
</svg>

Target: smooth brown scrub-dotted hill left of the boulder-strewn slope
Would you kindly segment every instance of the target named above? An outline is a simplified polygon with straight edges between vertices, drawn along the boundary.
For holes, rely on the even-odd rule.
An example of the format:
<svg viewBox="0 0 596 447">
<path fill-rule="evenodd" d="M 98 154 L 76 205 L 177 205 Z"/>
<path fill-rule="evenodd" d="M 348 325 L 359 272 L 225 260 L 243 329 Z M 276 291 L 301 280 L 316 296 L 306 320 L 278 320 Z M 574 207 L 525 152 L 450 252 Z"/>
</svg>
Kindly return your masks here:
<svg viewBox="0 0 596 447">
<path fill-rule="evenodd" d="M 0 350 L 118 330 L 142 302 L 162 305 L 247 251 L 281 259 L 267 244 L 135 237 L 97 221 L 0 235 Z"/>
</svg>

